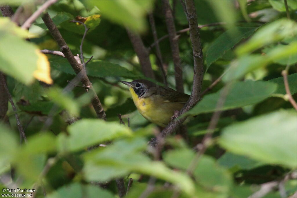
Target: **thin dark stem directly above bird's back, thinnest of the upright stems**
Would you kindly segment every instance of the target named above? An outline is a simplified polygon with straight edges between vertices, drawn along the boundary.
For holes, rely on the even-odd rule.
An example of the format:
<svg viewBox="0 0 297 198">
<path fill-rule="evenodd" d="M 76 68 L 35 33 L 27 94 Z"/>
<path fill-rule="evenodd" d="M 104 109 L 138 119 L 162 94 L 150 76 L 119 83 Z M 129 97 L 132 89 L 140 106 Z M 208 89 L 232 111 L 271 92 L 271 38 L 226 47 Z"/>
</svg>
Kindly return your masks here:
<svg viewBox="0 0 297 198">
<path fill-rule="evenodd" d="M 157 35 L 154 15 L 152 12 L 149 14 L 149 22 L 151 24 L 151 31 L 153 32 L 154 42 L 156 43 L 157 58 L 159 59 L 159 63 L 160 63 L 159 68 L 160 68 L 162 76 L 163 76 L 163 82 L 167 86 L 168 85 L 167 75 L 166 75 L 165 68 L 164 68 L 163 58 L 162 58 L 162 54 L 161 54 L 161 50 L 160 50 L 160 45 L 158 42 L 158 35 Z"/>
</svg>

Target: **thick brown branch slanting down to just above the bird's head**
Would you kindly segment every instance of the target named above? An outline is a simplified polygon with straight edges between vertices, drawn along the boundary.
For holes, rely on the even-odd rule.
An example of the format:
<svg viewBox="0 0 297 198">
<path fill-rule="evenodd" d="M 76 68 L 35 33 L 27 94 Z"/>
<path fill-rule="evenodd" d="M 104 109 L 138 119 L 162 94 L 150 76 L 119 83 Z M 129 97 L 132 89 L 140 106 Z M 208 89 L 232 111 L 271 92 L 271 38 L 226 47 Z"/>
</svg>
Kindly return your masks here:
<svg viewBox="0 0 297 198">
<path fill-rule="evenodd" d="M 151 61 L 149 60 L 149 50 L 144 46 L 139 34 L 130 31 L 128 28 L 127 33 L 133 45 L 134 51 L 139 58 L 143 74 L 146 77 L 154 79 L 155 75 L 153 69 L 151 68 Z"/>
</svg>

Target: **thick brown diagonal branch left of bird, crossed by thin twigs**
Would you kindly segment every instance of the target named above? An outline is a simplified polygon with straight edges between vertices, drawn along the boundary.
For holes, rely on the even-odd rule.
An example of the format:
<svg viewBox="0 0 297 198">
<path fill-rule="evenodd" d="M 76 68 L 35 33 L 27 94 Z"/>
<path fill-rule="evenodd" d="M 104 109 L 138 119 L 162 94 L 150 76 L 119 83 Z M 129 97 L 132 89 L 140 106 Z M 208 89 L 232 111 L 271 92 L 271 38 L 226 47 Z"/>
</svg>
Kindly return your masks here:
<svg viewBox="0 0 297 198">
<path fill-rule="evenodd" d="M 106 115 L 103 110 L 102 104 L 101 104 L 94 88 L 92 87 L 92 84 L 91 84 L 88 76 L 86 75 L 86 71 L 83 69 L 82 65 L 79 64 L 78 61 L 76 61 L 76 59 L 74 58 L 71 50 L 69 49 L 68 45 L 66 44 L 65 40 L 63 39 L 61 33 L 59 32 L 56 25 L 53 23 L 53 20 L 50 18 L 50 15 L 48 13 L 45 13 L 42 16 L 42 20 L 44 21 L 45 25 L 47 26 L 48 30 L 50 31 L 50 34 L 52 34 L 53 38 L 56 40 L 57 44 L 61 48 L 62 53 L 67 58 L 72 69 L 78 75 L 81 83 L 86 88 L 86 91 L 91 91 L 91 93 L 93 95 L 91 103 L 94 107 L 97 117 L 105 120 Z"/>
</svg>

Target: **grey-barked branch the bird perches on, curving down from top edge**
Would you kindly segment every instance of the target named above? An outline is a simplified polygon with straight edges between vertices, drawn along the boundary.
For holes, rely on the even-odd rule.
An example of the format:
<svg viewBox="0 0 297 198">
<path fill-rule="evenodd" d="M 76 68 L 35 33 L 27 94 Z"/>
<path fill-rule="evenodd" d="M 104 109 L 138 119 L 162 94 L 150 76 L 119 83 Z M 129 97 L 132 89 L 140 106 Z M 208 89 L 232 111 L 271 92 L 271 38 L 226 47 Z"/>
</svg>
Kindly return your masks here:
<svg viewBox="0 0 297 198">
<path fill-rule="evenodd" d="M 189 21 L 189 30 L 190 30 L 190 38 L 192 42 L 193 48 L 193 57 L 194 57 L 194 77 L 193 77 L 193 87 L 192 93 L 185 104 L 185 106 L 178 112 L 178 116 L 182 115 L 183 113 L 189 111 L 192 107 L 197 104 L 201 97 L 201 87 L 202 87 L 202 80 L 203 80 L 203 53 L 200 43 L 200 34 L 199 28 L 197 25 L 197 14 L 193 0 L 186 0 L 186 7 L 187 7 L 187 18 Z M 176 131 L 178 126 L 180 126 L 185 120 L 186 116 L 179 119 L 171 121 L 165 129 L 161 132 L 161 137 L 164 138 L 169 134 L 172 134 Z M 150 143 L 151 146 L 156 146 L 158 141 L 154 138 Z"/>
</svg>

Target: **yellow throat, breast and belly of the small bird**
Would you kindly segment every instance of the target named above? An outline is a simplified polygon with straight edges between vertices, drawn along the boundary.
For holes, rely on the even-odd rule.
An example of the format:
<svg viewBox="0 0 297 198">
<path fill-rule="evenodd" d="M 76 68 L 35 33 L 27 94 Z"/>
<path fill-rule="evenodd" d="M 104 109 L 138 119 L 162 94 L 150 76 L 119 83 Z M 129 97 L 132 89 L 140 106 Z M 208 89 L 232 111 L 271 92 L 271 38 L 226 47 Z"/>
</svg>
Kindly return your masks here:
<svg viewBox="0 0 297 198">
<path fill-rule="evenodd" d="M 169 102 L 160 95 L 139 98 L 133 88 L 129 88 L 135 106 L 139 113 L 152 123 L 165 127 L 175 110 L 181 110 L 183 103 Z"/>
</svg>

